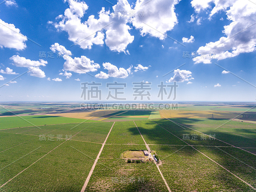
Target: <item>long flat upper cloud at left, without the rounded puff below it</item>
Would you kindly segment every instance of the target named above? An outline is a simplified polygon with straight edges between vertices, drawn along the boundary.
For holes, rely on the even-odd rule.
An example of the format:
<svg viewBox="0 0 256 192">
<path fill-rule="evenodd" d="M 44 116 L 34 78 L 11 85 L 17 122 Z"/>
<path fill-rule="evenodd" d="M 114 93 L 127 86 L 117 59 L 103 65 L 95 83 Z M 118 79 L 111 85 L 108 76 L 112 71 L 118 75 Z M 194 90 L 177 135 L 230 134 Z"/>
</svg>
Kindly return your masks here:
<svg viewBox="0 0 256 192">
<path fill-rule="evenodd" d="M 26 59 L 25 57 L 20 57 L 19 55 L 13 55 L 10 58 L 13 61 L 13 64 L 17 67 L 39 67 L 40 65 L 45 66 L 48 62 L 42 59 L 39 61 L 33 61 Z"/>
</svg>

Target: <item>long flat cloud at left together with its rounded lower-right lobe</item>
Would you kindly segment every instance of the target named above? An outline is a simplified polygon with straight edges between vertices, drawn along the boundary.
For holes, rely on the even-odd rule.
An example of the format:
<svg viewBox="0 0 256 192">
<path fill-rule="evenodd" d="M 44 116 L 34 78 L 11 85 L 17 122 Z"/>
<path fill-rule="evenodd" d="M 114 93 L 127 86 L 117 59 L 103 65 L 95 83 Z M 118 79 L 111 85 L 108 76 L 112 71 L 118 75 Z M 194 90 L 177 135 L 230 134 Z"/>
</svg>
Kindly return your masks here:
<svg viewBox="0 0 256 192">
<path fill-rule="evenodd" d="M 34 61 L 26 59 L 25 57 L 20 57 L 19 55 L 13 55 L 10 58 L 13 61 L 13 65 L 17 67 L 27 67 L 29 69 L 28 74 L 35 77 L 45 77 L 44 71 L 42 71 L 39 66 L 45 66 L 48 62 L 40 59 L 39 61 Z"/>
</svg>

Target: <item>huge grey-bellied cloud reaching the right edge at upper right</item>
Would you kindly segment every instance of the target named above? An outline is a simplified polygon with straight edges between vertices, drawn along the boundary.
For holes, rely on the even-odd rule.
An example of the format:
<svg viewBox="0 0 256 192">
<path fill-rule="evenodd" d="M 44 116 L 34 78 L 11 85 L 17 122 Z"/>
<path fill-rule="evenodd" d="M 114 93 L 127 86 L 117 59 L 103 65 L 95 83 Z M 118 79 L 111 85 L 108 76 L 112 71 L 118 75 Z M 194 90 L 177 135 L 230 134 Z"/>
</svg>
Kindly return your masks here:
<svg viewBox="0 0 256 192">
<path fill-rule="evenodd" d="M 225 36 L 220 37 L 216 42 L 207 43 L 199 47 L 197 53 L 199 56 L 193 60 L 195 63 L 211 63 L 212 59 L 223 60 L 236 57 L 240 53 L 255 51 L 256 47 L 256 10 L 250 1 L 243 0 L 193 0 L 192 6 L 196 12 L 212 8 L 209 19 L 220 11 L 225 11 L 230 24 L 224 26 Z"/>
</svg>

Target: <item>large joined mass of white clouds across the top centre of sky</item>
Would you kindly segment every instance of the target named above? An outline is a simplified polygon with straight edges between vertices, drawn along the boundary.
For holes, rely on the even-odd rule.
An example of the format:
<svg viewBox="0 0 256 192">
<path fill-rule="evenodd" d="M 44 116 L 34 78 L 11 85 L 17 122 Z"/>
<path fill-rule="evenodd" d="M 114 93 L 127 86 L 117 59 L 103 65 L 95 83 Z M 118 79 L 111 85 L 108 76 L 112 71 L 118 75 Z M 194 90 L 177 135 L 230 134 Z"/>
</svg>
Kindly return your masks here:
<svg viewBox="0 0 256 192">
<path fill-rule="evenodd" d="M 56 18 L 57 22 L 53 25 L 60 31 L 66 31 L 68 39 L 82 49 L 91 49 L 93 44 L 105 43 L 111 51 L 129 54 L 126 48 L 133 42 L 134 36 L 130 34 L 128 23 L 139 29 L 141 36 L 149 34 L 163 40 L 166 32 L 178 23 L 174 6 L 179 1 L 137 0 L 132 8 L 127 0 L 118 0 L 112 7 L 113 12 L 105 11 L 102 7 L 97 16 L 90 15 L 86 20 L 84 14 L 88 9 L 87 4 L 78 0 L 65 0 L 69 8 L 64 15 Z"/>
</svg>

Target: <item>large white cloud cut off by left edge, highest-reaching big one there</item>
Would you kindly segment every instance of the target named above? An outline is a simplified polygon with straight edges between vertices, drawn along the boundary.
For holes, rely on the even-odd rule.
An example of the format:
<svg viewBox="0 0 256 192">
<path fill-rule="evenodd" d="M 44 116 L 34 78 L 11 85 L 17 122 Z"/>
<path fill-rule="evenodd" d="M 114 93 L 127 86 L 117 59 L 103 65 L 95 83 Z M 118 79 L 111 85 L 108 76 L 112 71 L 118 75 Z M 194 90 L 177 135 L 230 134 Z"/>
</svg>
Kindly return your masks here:
<svg viewBox="0 0 256 192">
<path fill-rule="evenodd" d="M 25 41 L 27 37 L 20 33 L 20 29 L 15 28 L 13 24 L 5 23 L 0 19 L 0 47 L 14 48 L 16 50 L 23 50 L 27 46 Z"/>
</svg>

